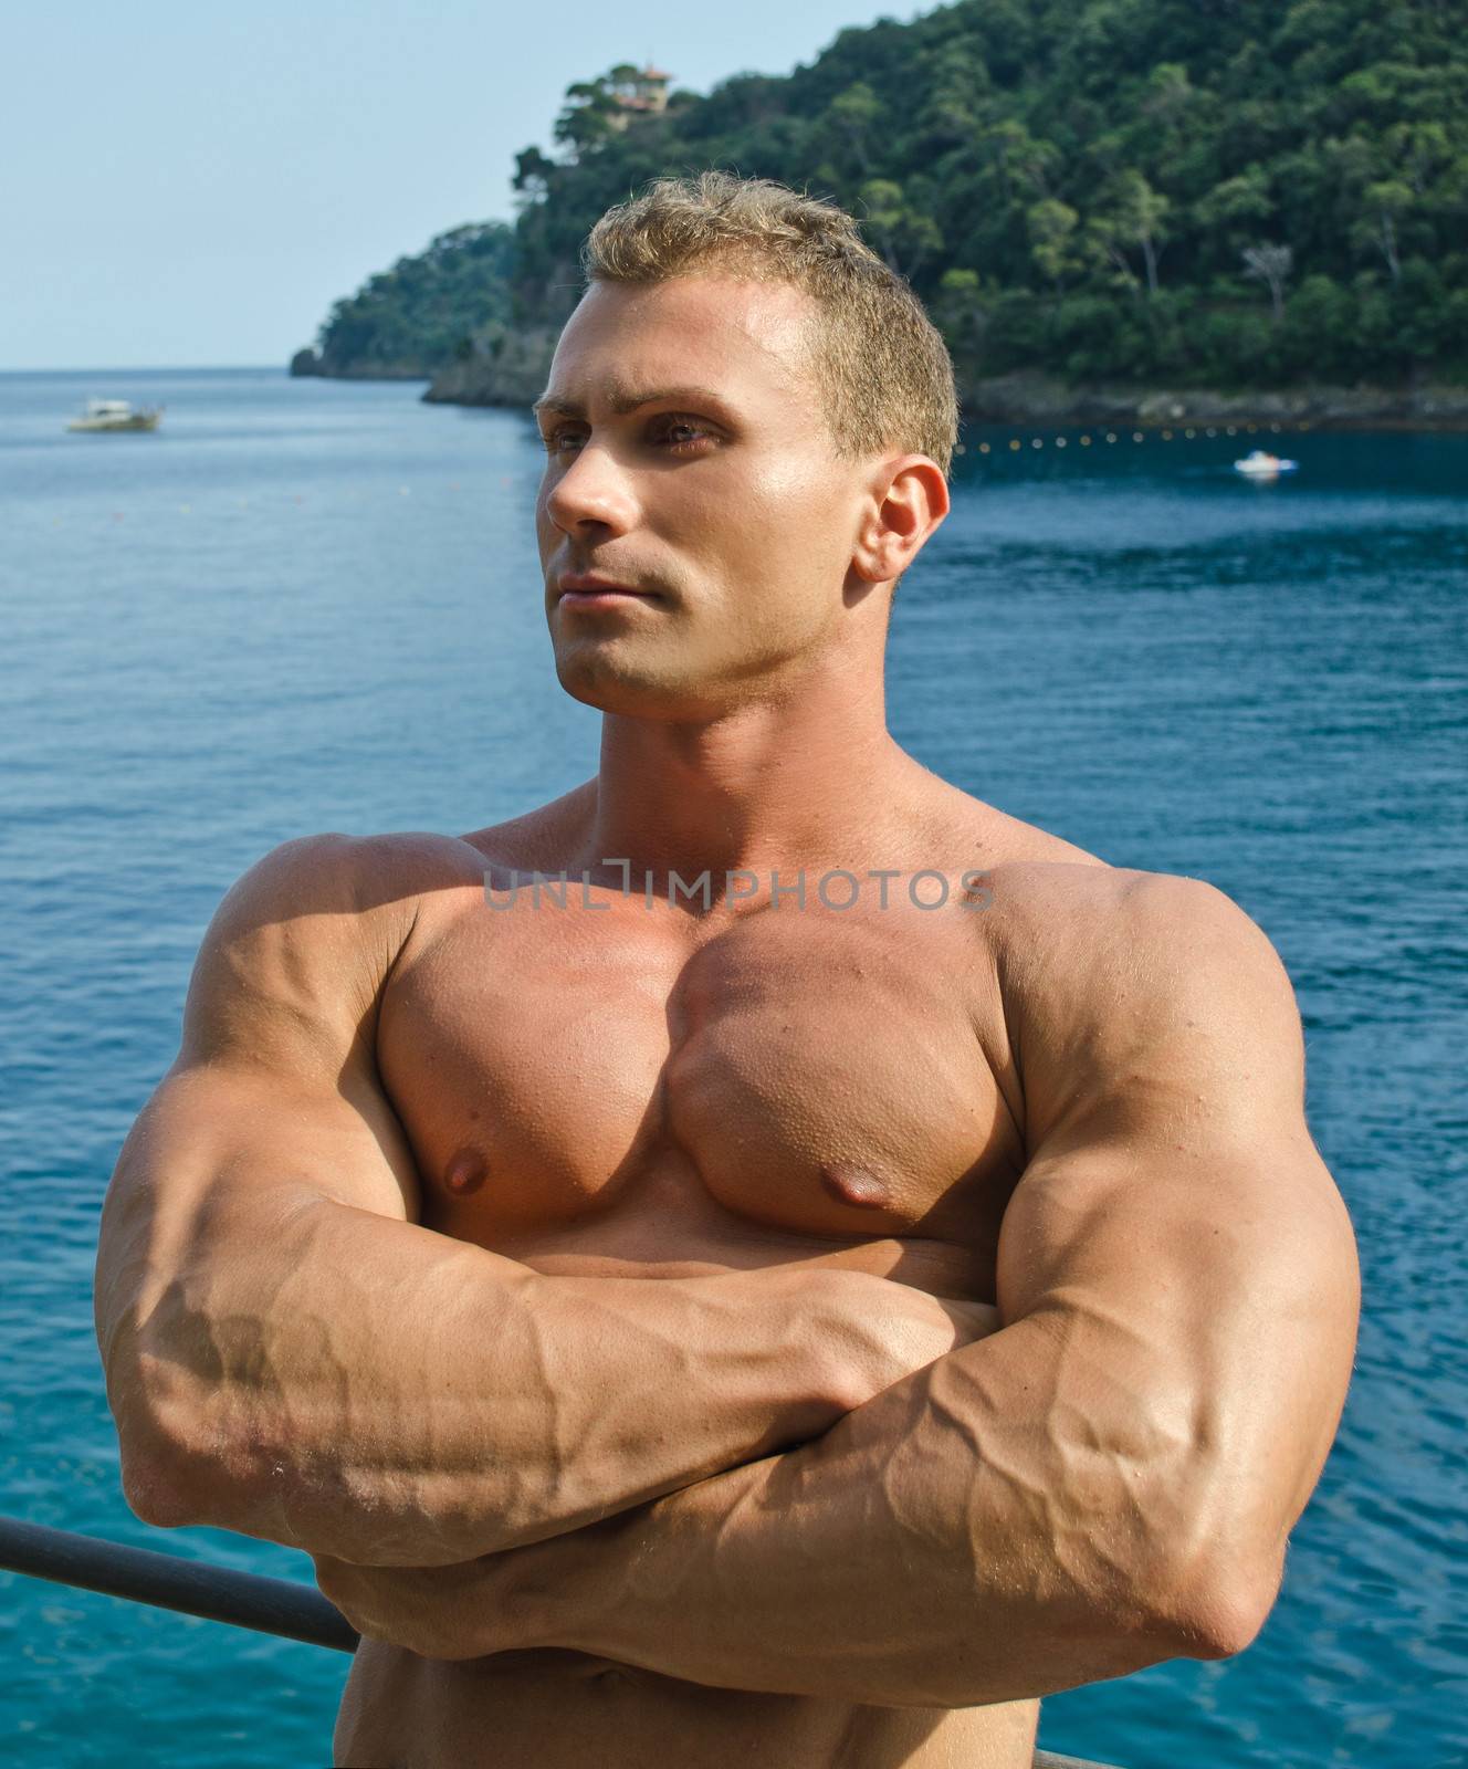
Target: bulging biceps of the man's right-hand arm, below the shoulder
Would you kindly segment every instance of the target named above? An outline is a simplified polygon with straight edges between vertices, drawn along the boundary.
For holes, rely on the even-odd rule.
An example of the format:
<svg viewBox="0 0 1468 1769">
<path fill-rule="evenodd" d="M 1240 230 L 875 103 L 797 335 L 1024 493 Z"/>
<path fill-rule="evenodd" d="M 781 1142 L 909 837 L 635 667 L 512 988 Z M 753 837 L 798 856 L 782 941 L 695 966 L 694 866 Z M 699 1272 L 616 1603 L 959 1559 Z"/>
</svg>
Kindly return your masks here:
<svg viewBox="0 0 1468 1769">
<path fill-rule="evenodd" d="M 1130 1415 L 1153 1454 L 1227 1489 L 1249 1541 L 1282 1541 L 1339 1424 L 1358 1311 L 1349 1219 L 1304 1132 L 1268 1160 L 1033 1164 L 999 1307 L 1063 1336 L 1075 1405 L 1118 1431 Z"/>
</svg>

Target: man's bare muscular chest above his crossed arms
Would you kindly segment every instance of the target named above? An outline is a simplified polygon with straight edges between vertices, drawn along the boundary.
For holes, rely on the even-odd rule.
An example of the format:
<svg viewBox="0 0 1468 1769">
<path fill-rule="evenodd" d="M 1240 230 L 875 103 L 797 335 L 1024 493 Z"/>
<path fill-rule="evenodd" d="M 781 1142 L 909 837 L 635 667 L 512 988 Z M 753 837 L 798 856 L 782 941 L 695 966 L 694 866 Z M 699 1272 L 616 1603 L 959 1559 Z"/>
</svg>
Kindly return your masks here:
<svg viewBox="0 0 1468 1769">
<path fill-rule="evenodd" d="M 992 1297 L 1001 1022 L 971 911 L 697 929 L 465 886 L 424 900 L 378 1063 L 424 1221 L 545 1270 L 835 1258 Z"/>
</svg>

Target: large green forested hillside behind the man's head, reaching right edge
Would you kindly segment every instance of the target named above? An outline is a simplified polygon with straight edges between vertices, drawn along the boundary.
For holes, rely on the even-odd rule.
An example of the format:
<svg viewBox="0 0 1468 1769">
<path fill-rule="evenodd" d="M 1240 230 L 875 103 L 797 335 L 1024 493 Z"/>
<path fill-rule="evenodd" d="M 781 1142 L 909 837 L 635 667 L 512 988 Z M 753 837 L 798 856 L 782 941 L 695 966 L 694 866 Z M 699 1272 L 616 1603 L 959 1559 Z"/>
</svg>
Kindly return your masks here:
<svg viewBox="0 0 1468 1769">
<path fill-rule="evenodd" d="M 960 380 L 1468 379 L 1464 0 L 959 0 L 663 113 L 612 87 L 518 156 L 515 327 L 608 203 L 723 166 L 851 209 Z"/>
</svg>

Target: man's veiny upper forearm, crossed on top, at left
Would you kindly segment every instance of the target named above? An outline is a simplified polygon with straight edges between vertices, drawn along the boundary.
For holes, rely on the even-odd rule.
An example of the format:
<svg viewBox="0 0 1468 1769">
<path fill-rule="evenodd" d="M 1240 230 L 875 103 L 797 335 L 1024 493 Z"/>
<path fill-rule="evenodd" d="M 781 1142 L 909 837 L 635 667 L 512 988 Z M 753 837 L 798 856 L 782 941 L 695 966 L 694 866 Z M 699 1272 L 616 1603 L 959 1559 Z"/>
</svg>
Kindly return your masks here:
<svg viewBox="0 0 1468 1769">
<path fill-rule="evenodd" d="M 134 1505 L 363 1564 L 575 1530 L 831 1424 L 778 1274 L 561 1279 L 409 1222 L 200 1212 L 110 1339 Z M 163 1274 L 163 1275 L 161 1275 Z"/>
</svg>

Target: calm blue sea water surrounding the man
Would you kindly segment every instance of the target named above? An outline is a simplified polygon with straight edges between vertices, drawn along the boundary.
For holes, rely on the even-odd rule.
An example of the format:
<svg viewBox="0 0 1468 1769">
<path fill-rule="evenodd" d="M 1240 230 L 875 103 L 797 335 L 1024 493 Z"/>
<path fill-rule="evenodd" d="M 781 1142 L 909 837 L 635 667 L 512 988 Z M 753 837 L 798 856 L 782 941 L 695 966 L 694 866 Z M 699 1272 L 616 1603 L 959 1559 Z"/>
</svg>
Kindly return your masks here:
<svg viewBox="0 0 1468 1769">
<path fill-rule="evenodd" d="M 65 435 L 90 394 L 164 400 L 164 428 Z M 14 1516 L 310 1571 L 131 1518 L 92 1254 L 200 934 L 253 860 L 313 830 L 472 828 L 594 771 L 596 715 L 550 669 L 534 437 L 416 394 L 0 377 Z M 902 586 L 893 729 L 967 791 L 1118 865 L 1208 877 L 1265 927 L 1367 1297 L 1258 1643 L 1056 1696 L 1042 1742 L 1135 1769 L 1461 1764 L 1468 437 L 1289 437 L 1304 471 L 1270 488 L 1229 472 L 1243 439 L 978 440 Z M 327 1762 L 336 1654 L 5 1574 L 0 1608 L 9 1762 Z"/>
</svg>

